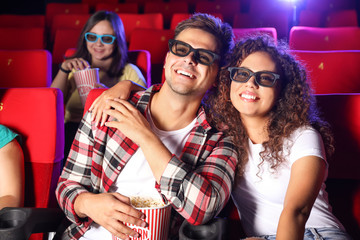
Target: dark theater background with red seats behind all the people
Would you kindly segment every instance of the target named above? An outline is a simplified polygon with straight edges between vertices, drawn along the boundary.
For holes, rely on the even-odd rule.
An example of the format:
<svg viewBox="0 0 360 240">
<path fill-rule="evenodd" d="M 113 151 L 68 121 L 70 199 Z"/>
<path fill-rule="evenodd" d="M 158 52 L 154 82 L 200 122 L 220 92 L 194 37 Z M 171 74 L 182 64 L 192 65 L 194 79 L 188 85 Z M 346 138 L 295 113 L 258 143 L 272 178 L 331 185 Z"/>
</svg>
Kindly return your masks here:
<svg viewBox="0 0 360 240">
<path fill-rule="evenodd" d="M 0 124 L 25 136 L 26 207 L 57 207 L 54 189 L 63 164 L 64 106 L 61 91 L 50 85 L 59 63 L 76 48 L 86 20 L 102 9 L 117 12 L 123 20 L 129 51 L 149 52 L 151 58 L 132 59 L 148 86 L 164 81 L 167 40 L 176 24 L 194 12 L 227 21 L 236 39 L 261 32 L 288 42 L 306 66 L 334 132 L 336 152 L 326 181 L 333 212 L 350 235 L 360 239 L 360 0 L 3 1 Z M 226 239 L 239 239 L 241 225 L 231 201 L 221 216 L 228 221 Z M 43 239 L 43 234 L 30 239 Z"/>
</svg>

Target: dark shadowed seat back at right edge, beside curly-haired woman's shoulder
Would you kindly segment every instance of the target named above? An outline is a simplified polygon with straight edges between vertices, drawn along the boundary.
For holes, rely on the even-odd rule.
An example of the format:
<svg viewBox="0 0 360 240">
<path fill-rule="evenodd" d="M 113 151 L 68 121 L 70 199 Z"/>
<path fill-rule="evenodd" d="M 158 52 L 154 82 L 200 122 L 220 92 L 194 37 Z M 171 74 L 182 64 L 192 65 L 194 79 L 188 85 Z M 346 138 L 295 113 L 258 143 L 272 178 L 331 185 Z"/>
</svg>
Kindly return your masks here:
<svg viewBox="0 0 360 240">
<path fill-rule="evenodd" d="M 329 177 L 360 180 L 360 93 L 316 95 L 336 141 Z"/>
</svg>

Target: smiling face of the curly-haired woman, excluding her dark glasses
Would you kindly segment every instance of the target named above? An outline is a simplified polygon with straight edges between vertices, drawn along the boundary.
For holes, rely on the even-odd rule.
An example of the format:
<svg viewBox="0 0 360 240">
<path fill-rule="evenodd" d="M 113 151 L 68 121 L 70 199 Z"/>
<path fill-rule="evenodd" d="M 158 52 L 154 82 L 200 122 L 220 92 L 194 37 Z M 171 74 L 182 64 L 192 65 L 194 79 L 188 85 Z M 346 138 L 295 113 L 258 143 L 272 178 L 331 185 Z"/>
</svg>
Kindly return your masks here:
<svg viewBox="0 0 360 240">
<path fill-rule="evenodd" d="M 277 72 L 276 63 L 266 52 L 254 52 L 247 56 L 238 67 L 252 72 Z M 265 118 L 273 108 L 280 92 L 280 80 L 272 87 L 259 86 L 252 76 L 246 83 L 232 81 L 230 99 L 241 118 Z"/>
</svg>

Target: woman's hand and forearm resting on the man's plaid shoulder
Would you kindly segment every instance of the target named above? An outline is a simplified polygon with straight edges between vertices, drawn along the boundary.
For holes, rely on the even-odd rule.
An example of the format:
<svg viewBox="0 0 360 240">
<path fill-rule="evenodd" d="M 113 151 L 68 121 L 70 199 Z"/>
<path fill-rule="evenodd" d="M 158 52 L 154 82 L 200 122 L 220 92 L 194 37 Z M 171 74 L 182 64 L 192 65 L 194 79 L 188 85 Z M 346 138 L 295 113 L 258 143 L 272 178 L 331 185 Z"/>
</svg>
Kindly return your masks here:
<svg viewBox="0 0 360 240">
<path fill-rule="evenodd" d="M 89 110 L 92 112 L 91 121 L 95 121 L 96 126 L 104 126 L 108 115 L 104 112 L 106 109 L 110 109 L 110 106 L 106 103 L 108 99 L 125 99 L 127 100 L 133 90 L 133 83 L 125 80 L 118 82 L 112 88 L 104 91 L 99 97 L 97 97 L 91 104 Z"/>
</svg>

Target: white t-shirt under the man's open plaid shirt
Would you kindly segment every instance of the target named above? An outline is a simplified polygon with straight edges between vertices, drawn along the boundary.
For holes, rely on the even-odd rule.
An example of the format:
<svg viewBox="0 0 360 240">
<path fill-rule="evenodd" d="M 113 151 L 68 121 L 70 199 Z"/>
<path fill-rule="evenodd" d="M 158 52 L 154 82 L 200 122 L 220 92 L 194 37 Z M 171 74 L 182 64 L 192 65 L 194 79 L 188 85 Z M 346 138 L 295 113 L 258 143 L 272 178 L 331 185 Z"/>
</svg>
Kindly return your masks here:
<svg viewBox="0 0 360 240">
<path fill-rule="evenodd" d="M 149 110 L 147 116 L 151 116 Z M 160 138 L 167 149 L 180 156 L 182 149 L 185 146 L 186 140 L 189 137 L 191 129 L 194 127 L 196 118 L 185 128 L 175 131 L 162 131 L 158 129 L 149 117 L 149 123 L 153 132 Z M 156 180 L 150 169 L 150 166 L 145 159 L 145 156 L 138 148 L 136 153 L 126 163 L 123 170 L 120 172 L 116 182 L 110 187 L 109 192 L 118 192 L 125 196 L 151 196 L 154 198 L 161 198 L 159 192 L 155 188 Z M 80 240 L 112 240 L 111 233 L 93 222 L 90 229 L 80 238 Z"/>
</svg>

